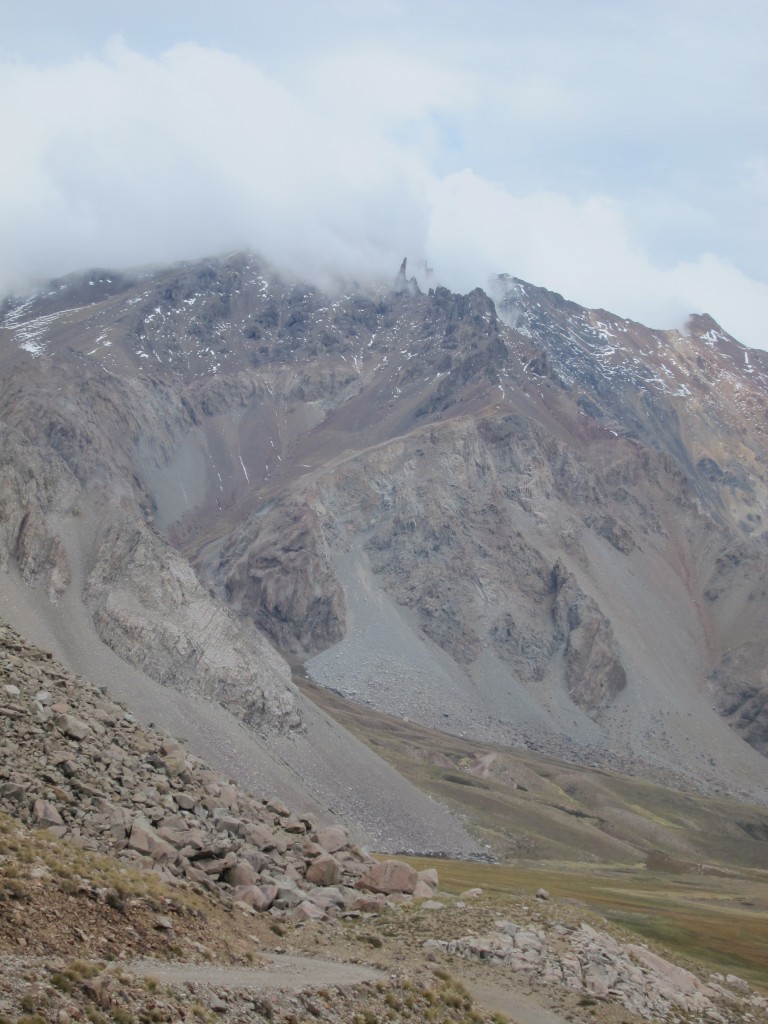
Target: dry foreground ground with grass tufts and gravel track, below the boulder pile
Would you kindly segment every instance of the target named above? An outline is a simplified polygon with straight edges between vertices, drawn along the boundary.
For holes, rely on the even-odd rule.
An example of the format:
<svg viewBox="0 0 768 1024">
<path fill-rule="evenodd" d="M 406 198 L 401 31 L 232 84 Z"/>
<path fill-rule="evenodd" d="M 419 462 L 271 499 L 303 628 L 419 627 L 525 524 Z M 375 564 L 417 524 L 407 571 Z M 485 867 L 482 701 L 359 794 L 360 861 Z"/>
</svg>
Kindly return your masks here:
<svg viewBox="0 0 768 1024">
<path fill-rule="evenodd" d="M 570 900 L 438 891 L 281 920 L 1 824 L 0 1021 L 768 1021 L 744 982 Z"/>
</svg>

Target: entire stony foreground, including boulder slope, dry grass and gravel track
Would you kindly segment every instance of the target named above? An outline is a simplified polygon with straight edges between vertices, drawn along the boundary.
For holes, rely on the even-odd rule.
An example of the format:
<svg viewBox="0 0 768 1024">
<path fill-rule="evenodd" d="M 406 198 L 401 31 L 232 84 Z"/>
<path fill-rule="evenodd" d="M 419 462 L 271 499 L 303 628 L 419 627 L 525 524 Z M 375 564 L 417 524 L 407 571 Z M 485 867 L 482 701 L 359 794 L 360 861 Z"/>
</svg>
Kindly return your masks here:
<svg viewBox="0 0 768 1024">
<path fill-rule="evenodd" d="M 376 861 L 5 627 L 0 677 L 0 1024 L 768 1022 L 579 904 Z"/>
</svg>

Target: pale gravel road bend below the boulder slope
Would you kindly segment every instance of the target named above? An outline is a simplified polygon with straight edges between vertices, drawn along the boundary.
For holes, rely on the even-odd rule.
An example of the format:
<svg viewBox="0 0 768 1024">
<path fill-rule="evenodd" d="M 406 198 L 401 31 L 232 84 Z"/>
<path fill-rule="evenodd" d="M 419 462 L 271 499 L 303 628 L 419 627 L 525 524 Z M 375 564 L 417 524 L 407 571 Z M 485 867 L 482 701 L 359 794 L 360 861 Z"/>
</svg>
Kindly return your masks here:
<svg viewBox="0 0 768 1024">
<path fill-rule="evenodd" d="M 217 967 L 213 964 L 166 964 L 162 961 L 134 961 L 125 969 L 141 978 L 157 978 L 166 985 L 183 985 L 195 981 L 221 988 L 253 988 L 258 991 L 279 989 L 300 992 L 305 988 L 325 985 L 357 985 L 364 981 L 385 978 L 383 971 L 358 964 L 319 959 L 315 956 L 293 956 L 259 953 L 268 961 L 264 967 Z"/>
</svg>

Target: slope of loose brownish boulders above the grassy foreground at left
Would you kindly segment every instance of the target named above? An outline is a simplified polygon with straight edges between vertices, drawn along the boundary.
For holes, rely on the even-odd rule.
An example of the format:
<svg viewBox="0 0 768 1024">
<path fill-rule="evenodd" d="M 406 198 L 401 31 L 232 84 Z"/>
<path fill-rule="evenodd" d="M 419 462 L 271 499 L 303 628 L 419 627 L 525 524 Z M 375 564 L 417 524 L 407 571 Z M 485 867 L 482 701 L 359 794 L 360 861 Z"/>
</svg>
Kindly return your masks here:
<svg viewBox="0 0 768 1024">
<path fill-rule="evenodd" d="M 0 680 L 0 810 L 27 824 L 295 920 L 356 909 L 360 889 L 436 887 L 434 872 L 376 863 L 343 827 L 248 796 L 2 625 Z"/>
</svg>

